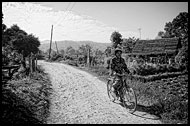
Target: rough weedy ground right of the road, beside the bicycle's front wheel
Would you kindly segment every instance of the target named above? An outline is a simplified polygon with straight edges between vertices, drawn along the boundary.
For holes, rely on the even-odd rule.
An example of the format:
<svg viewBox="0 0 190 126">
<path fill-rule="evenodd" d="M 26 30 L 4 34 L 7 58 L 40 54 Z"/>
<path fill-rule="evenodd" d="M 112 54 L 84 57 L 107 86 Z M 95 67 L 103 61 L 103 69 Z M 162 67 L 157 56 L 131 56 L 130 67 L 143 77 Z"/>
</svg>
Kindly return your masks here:
<svg viewBox="0 0 190 126">
<path fill-rule="evenodd" d="M 129 81 L 129 80 L 128 80 Z M 188 75 L 129 84 L 135 89 L 138 104 L 146 106 L 146 111 L 157 115 L 163 123 L 188 123 Z"/>
</svg>

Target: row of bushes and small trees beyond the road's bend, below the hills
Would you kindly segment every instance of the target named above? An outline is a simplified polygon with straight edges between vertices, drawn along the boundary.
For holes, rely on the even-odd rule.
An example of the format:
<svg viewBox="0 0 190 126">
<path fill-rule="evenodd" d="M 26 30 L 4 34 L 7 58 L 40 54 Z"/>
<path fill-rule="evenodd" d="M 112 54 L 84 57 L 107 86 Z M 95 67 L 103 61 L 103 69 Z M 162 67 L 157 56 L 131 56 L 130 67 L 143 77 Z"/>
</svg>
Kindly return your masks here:
<svg viewBox="0 0 190 126">
<path fill-rule="evenodd" d="M 49 61 L 61 61 L 73 66 L 87 65 L 87 57 L 89 51 L 89 63 L 91 66 L 104 63 L 104 52 L 99 49 L 94 50 L 90 45 L 81 45 L 78 49 L 68 47 L 66 50 L 61 50 L 58 54 L 52 50 L 49 59 L 49 49 L 43 53 L 44 57 Z"/>
</svg>

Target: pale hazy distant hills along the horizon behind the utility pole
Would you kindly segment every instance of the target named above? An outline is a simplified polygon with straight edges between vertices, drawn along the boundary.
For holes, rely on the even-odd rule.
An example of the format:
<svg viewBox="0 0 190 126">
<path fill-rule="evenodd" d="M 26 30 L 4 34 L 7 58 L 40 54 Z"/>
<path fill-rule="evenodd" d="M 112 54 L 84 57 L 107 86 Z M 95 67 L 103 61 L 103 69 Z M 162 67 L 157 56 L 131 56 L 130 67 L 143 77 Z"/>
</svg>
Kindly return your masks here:
<svg viewBox="0 0 190 126">
<path fill-rule="evenodd" d="M 56 41 L 58 50 L 64 49 L 66 50 L 67 47 L 71 46 L 74 49 L 78 49 L 81 45 L 86 45 L 89 44 L 92 49 L 99 49 L 101 51 L 105 51 L 105 49 L 108 46 L 111 46 L 110 43 L 98 43 L 98 42 L 93 42 L 93 41 L 71 41 L 71 40 L 65 40 L 65 41 Z M 39 47 L 40 50 L 42 51 L 47 51 L 50 47 L 50 41 L 45 40 L 41 42 L 41 45 Z M 51 48 L 56 51 L 56 45 L 55 41 L 52 42 Z"/>
</svg>

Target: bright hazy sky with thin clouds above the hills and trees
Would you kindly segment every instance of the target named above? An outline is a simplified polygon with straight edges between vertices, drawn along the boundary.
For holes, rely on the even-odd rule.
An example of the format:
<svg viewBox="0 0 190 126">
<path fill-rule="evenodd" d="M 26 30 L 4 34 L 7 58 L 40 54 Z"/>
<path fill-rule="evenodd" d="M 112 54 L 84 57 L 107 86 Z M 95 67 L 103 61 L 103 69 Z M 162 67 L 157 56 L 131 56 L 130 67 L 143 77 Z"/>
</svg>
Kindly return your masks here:
<svg viewBox="0 0 190 126">
<path fill-rule="evenodd" d="M 23 12 L 24 11 L 24 12 Z M 29 2 L 3 3 L 4 23 L 18 24 L 40 40 L 92 40 L 110 42 L 113 31 L 123 38 L 154 39 L 187 2 Z"/>
</svg>

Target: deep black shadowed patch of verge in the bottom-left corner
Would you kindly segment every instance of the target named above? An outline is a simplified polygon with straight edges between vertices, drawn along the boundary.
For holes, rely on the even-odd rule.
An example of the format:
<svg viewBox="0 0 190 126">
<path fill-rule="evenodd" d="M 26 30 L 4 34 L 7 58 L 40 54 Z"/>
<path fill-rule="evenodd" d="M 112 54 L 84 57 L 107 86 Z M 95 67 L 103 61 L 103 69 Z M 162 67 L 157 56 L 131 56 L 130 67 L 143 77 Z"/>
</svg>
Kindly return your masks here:
<svg viewBox="0 0 190 126">
<path fill-rule="evenodd" d="M 2 90 L 2 124 L 42 124 L 35 117 L 32 106 L 10 89 Z"/>
</svg>

